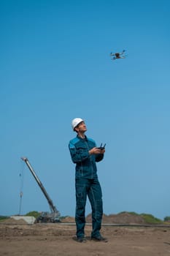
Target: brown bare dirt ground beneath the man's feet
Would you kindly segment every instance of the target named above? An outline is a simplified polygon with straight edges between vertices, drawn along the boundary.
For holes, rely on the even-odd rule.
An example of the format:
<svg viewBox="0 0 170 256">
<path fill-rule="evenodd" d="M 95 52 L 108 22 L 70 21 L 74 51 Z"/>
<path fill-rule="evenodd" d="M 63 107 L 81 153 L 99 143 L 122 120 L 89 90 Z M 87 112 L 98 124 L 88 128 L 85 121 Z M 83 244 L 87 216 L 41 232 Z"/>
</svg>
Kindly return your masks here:
<svg viewBox="0 0 170 256">
<path fill-rule="evenodd" d="M 90 236 L 91 225 L 86 225 Z M 0 255 L 5 256 L 170 256 L 170 227 L 127 227 L 102 225 L 107 243 L 74 241 L 74 223 L 0 224 Z"/>
</svg>

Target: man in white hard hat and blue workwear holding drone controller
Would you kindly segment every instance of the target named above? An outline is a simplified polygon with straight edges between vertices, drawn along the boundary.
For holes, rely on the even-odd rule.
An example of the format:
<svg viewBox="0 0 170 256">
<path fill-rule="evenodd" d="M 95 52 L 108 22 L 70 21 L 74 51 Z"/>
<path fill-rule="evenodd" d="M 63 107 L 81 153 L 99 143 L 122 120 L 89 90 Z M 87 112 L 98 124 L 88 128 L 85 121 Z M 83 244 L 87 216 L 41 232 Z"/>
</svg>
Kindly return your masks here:
<svg viewBox="0 0 170 256">
<path fill-rule="evenodd" d="M 102 237 L 100 233 L 103 203 L 96 167 L 96 162 L 104 158 L 105 149 L 97 148 L 95 141 L 86 137 L 87 128 L 82 118 L 73 119 L 72 129 L 77 132 L 77 137 L 69 142 L 72 161 L 76 164 L 76 240 L 79 242 L 86 241 L 85 205 L 88 196 L 92 208 L 92 232 L 90 238 L 95 241 L 107 241 L 107 238 Z"/>
</svg>

